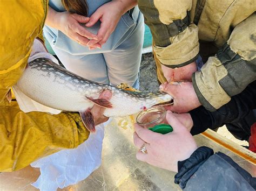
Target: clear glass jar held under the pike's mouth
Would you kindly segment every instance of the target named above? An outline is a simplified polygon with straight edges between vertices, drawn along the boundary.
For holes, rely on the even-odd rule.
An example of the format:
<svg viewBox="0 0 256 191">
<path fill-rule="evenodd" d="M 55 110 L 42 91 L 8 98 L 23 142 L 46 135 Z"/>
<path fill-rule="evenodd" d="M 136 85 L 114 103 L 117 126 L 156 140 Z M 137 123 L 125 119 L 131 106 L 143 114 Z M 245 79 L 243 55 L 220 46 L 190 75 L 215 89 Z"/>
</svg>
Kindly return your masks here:
<svg viewBox="0 0 256 191">
<path fill-rule="evenodd" d="M 166 110 L 164 107 L 151 108 L 140 112 L 136 118 L 136 122 L 144 128 L 152 128 L 159 124 L 168 124 L 165 116 Z"/>
</svg>

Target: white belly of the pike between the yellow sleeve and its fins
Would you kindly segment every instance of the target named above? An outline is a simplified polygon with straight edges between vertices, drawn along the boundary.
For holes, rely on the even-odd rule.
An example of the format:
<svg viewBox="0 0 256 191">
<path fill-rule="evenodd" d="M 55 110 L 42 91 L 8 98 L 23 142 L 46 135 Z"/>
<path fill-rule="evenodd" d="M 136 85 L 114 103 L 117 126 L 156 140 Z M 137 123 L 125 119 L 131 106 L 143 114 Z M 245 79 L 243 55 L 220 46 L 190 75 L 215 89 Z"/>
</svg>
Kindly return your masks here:
<svg viewBox="0 0 256 191">
<path fill-rule="evenodd" d="M 72 84 L 53 72 L 26 68 L 17 86 L 32 100 L 55 109 L 83 111 L 93 105 Z"/>
</svg>

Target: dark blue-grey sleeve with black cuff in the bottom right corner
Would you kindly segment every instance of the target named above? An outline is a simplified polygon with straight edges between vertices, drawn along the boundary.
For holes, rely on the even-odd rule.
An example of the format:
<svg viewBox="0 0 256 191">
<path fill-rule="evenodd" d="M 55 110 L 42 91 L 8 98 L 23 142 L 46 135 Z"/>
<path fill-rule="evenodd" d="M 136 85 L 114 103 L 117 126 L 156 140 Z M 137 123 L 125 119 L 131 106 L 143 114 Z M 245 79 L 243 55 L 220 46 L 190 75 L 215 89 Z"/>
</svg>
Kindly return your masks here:
<svg viewBox="0 0 256 191">
<path fill-rule="evenodd" d="M 227 155 L 199 147 L 185 161 L 178 162 L 174 182 L 184 190 L 255 190 L 256 178 Z"/>
</svg>

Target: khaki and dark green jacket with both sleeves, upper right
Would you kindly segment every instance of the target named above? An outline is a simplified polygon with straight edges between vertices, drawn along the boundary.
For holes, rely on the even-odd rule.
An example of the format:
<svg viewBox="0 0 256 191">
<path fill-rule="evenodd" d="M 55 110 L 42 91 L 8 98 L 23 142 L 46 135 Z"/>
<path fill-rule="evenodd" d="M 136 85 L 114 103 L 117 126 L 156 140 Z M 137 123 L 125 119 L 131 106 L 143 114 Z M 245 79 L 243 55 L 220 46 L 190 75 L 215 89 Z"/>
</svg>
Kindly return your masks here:
<svg viewBox="0 0 256 191">
<path fill-rule="evenodd" d="M 199 101 L 220 108 L 256 80 L 255 0 L 138 0 L 161 65 L 182 67 L 200 54 L 206 62 L 192 77 Z M 199 47 L 200 44 L 200 47 Z"/>
</svg>

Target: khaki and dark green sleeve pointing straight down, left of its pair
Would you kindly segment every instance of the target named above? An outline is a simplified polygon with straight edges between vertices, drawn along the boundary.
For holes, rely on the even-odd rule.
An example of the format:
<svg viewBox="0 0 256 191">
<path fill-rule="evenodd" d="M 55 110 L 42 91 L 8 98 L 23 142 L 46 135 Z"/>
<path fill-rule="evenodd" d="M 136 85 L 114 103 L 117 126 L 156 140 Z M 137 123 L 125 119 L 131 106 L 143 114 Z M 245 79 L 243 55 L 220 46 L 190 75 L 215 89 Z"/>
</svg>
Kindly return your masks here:
<svg viewBox="0 0 256 191">
<path fill-rule="evenodd" d="M 150 27 L 153 49 L 161 64 L 175 68 L 197 59 L 198 27 L 190 22 L 189 12 L 192 0 L 138 0 L 138 6 Z"/>
</svg>

